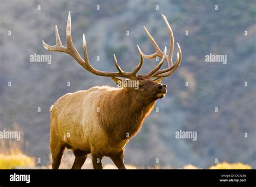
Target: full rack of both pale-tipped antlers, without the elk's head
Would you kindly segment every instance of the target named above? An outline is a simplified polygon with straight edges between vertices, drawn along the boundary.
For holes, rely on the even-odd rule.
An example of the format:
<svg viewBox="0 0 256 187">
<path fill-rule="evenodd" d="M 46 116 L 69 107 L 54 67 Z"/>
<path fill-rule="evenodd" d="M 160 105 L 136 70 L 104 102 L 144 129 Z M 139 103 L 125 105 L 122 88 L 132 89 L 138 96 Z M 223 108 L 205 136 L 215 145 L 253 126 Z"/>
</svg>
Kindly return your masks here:
<svg viewBox="0 0 256 187">
<path fill-rule="evenodd" d="M 176 63 L 172 63 L 172 54 L 173 54 L 173 49 L 174 49 L 174 37 L 173 37 L 173 32 L 172 29 L 169 25 L 169 23 L 167 22 L 167 19 L 164 15 L 162 15 L 165 23 L 167 25 L 167 28 L 169 30 L 170 33 L 170 50 L 169 50 L 169 54 L 166 54 L 166 47 L 164 52 L 162 52 L 156 41 L 154 41 L 153 37 L 151 36 L 151 34 L 149 33 L 149 31 L 147 31 L 146 27 L 144 26 L 144 29 L 147 33 L 147 36 L 149 36 L 152 44 L 154 45 L 154 48 L 156 49 L 156 52 L 150 55 L 145 55 L 138 47 L 138 51 L 139 51 L 139 55 L 140 55 L 140 61 L 138 63 L 138 65 L 134 68 L 134 70 L 132 72 L 125 72 L 123 71 L 119 65 L 118 65 L 118 61 L 116 56 L 114 55 L 114 62 L 116 65 L 116 68 L 118 70 L 118 72 L 106 72 L 106 71 L 99 71 L 96 70 L 95 68 L 93 68 L 90 64 L 88 55 L 87 55 L 87 46 L 86 46 L 86 40 L 85 40 L 85 36 L 83 34 L 83 48 L 84 48 L 84 59 L 80 56 L 80 54 L 78 53 L 78 51 L 76 50 L 76 47 L 74 46 L 73 42 L 72 42 L 72 36 L 71 36 L 71 16 L 70 16 L 70 12 L 69 12 L 69 16 L 68 16 L 68 22 L 66 25 L 66 44 L 67 46 L 64 47 L 62 45 L 62 42 L 59 38 L 59 32 L 58 32 L 58 28 L 57 25 L 55 27 L 55 34 L 56 34 L 56 44 L 51 46 L 46 44 L 43 41 L 43 46 L 46 50 L 48 51 L 60 51 L 60 52 L 65 52 L 70 54 L 71 57 L 73 57 L 82 67 L 85 68 L 85 70 L 99 75 L 99 76 L 104 76 L 104 77 L 124 77 L 124 78 L 130 78 L 130 79 L 134 79 L 136 78 L 136 74 L 137 72 L 140 70 L 140 68 L 142 67 L 143 64 L 143 57 L 145 57 L 146 59 L 152 59 L 152 58 L 156 58 L 156 57 L 162 57 L 160 63 L 153 68 L 153 70 L 151 70 L 149 73 L 147 73 L 147 75 L 149 77 L 167 77 L 169 75 L 171 75 L 174 71 L 177 70 L 177 68 L 179 67 L 180 63 L 181 63 L 181 50 L 180 50 L 180 46 L 178 45 L 178 53 L 177 53 L 177 60 Z M 159 70 L 159 68 L 161 67 L 161 65 L 163 65 L 165 59 L 167 59 L 167 63 L 168 63 L 168 68 L 165 68 L 164 70 Z"/>
</svg>

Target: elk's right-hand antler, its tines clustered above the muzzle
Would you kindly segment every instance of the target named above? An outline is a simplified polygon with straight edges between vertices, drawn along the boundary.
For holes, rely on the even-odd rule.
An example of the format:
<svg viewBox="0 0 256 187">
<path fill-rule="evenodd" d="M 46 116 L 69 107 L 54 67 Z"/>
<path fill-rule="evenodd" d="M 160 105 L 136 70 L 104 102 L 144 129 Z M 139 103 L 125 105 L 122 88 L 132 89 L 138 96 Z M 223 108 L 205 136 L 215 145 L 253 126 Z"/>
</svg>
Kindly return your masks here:
<svg viewBox="0 0 256 187">
<path fill-rule="evenodd" d="M 153 37 L 151 36 L 151 34 L 149 33 L 149 31 L 147 31 L 146 27 L 144 27 L 144 30 L 146 31 L 147 33 L 147 36 L 149 36 L 154 48 L 156 49 L 156 52 L 153 53 L 153 54 L 149 54 L 149 55 L 145 55 L 143 53 L 143 57 L 145 57 L 146 59 L 152 59 L 152 58 L 156 58 L 156 57 L 162 57 L 162 60 L 163 59 L 167 59 L 167 63 L 168 63 L 168 68 L 165 68 L 164 70 L 159 70 L 159 68 L 161 67 L 161 65 L 163 64 L 162 60 L 160 61 L 160 63 L 157 65 L 156 68 L 154 68 L 152 71 L 150 71 L 149 73 L 147 73 L 147 75 L 149 75 L 150 77 L 167 77 L 169 75 L 171 75 L 174 71 L 177 70 L 177 68 L 179 67 L 180 63 L 181 63 L 181 50 L 180 50 L 180 46 L 179 44 L 177 43 L 178 45 L 178 51 L 177 51 L 177 59 L 173 65 L 172 63 L 172 54 L 173 54 L 173 50 L 174 50 L 174 37 L 173 37 L 173 32 L 172 32 L 172 29 L 171 29 L 171 26 L 170 24 L 168 23 L 166 17 L 162 14 L 164 20 L 165 20 L 165 23 L 167 25 L 167 28 L 168 28 L 168 31 L 170 33 L 170 50 L 169 50 L 169 54 L 166 55 L 166 48 L 165 48 L 165 52 L 162 52 L 156 41 L 154 41 Z M 159 71 L 157 71 L 157 70 Z"/>
</svg>

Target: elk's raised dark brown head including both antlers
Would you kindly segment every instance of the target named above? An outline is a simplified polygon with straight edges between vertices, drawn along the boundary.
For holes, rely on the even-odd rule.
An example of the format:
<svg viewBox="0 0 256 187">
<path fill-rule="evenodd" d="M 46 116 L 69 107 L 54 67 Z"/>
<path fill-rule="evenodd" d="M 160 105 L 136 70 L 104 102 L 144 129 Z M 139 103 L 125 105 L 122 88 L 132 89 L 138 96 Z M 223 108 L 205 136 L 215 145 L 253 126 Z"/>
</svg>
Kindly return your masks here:
<svg viewBox="0 0 256 187">
<path fill-rule="evenodd" d="M 153 53 L 153 54 L 150 54 L 150 55 L 145 55 L 140 50 L 139 46 L 137 45 L 139 55 L 140 55 L 140 61 L 132 72 L 123 71 L 119 67 L 118 61 L 117 61 L 117 58 L 116 58 L 115 55 L 114 55 L 114 62 L 115 62 L 115 65 L 116 65 L 116 68 L 117 68 L 118 72 L 105 72 L 105 71 L 99 71 L 99 70 L 96 70 L 95 68 L 93 68 L 91 66 L 91 64 L 89 62 L 89 59 L 88 59 L 88 56 L 87 56 L 87 46 L 86 46 L 86 41 L 85 41 L 84 34 L 83 34 L 83 48 L 84 48 L 84 59 L 83 59 L 80 56 L 80 54 L 78 53 L 78 51 L 76 50 L 76 48 L 75 48 L 75 46 L 73 45 L 73 42 L 72 42 L 70 12 L 69 12 L 68 22 L 67 22 L 67 26 L 66 26 L 66 44 L 67 44 L 67 46 L 64 47 L 62 45 L 62 42 L 60 41 L 57 25 L 55 27 L 56 45 L 50 46 L 48 44 L 45 44 L 44 41 L 43 41 L 43 46 L 48 51 L 60 51 L 60 52 L 68 53 L 83 68 L 85 68 L 85 70 L 87 70 L 87 71 L 89 71 L 93 74 L 99 75 L 99 76 L 111 77 L 112 80 L 114 82 L 116 82 L 116 84 L 118 86 L 123 87 L 127 92 L 136 93 L 134 95 L 137 95 L 137 96 L 140 96 L 140 97 L 143 97 L 143 98 L 147 98 L 151 101 L 155 101 L 157 99 L 163 98 L 164 94 L 166 93 L 166 85 L 161 84 L 161 80 L 163 80 L 164 77 L 168 77 L 174 71 L 176 71 L 177 68 L 179 67 L 180 63 L 181 63 L 181 50 L 180 50 L 180 46 L 179 46 L 178 43 L 177 43 L 177 45 L 178 45 L 177 59 L 176 59 L 176 62 L 174 64 L 172 62 L 172 55 L 173 55 L 173 50 L 174 50 L 173 32 L 172 32 L 171 26 L 169 25 L 166 17 L 163 14 L 162 14 L 162 16 L 165 20 L 165 23 L 167 25 L 167 29 L 168 29 L 169 34 L 170 34 L 169 53 L 166 54 L 166 51 L 167 51 L 166 47 L 164 49 L 164 52 L 159 49 L 156 41 L 154 41 L 153 37 L 151 36 L 149 31 L 147 31 L 146 27 L 144 26 L 144 30 L 146 31 L 147 36 L 149 36 L 154 48 L 156 49 L 156 52 Z M 153 70 L 151 70 L 146 75 L 137 75 L 137 72 L 142 67 L 143 58 L 153 59 L 153 58 L 156 58 L 156 57 L 161 57 L 161 60 L 158 63 L 158 65 L 153 68 Z M 163 65 L 165 60 L 167 60 L 168 67 L 163 69 L 163 70 L 159 70 L 160 67 Z M 121 79 L 121 78 L 118 78 L 118 77 L 123 77 L 123 78 L 127 78 L 127 79 Z M 153 78 L 157 78 L 157 79 L 153 79 Z M 134 81 L 134 83 L 133 83 L 134 86 L 133 87 L 125 86 L 125 85 L 127 85 L 127 82 L 129 84 L 129 81 L 130 82 Z M 126 82 L 126 84 L 125 84 L 125 82 Z"/>
</svg>

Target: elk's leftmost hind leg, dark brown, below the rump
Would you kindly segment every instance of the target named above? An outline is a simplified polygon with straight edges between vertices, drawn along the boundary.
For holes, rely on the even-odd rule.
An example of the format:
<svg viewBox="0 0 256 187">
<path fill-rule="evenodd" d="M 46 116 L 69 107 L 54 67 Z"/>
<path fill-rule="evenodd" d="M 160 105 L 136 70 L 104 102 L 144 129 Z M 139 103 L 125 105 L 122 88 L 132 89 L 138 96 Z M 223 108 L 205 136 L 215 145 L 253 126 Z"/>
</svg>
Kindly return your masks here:
<svg viewBox="0 0 256 187">
<path fill-rule="evenodd" d="M 59 143 L 58 145 L 50 144 L 51 155 L 52 155 L 52 169 L 59 169 L 60 161 L 62 160 L 63 151 L 65 144 Z"/>
</svg>

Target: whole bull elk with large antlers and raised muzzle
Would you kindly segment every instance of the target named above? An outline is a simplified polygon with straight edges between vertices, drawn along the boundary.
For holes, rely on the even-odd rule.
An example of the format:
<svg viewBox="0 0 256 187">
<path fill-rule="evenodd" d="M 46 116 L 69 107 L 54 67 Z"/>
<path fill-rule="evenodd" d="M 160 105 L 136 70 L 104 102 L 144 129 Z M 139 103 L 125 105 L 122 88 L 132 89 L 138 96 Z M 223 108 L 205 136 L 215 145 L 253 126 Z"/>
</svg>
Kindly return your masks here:
<svg viewBox="0 0 256 187">
<path fill-rule="evenodd" d="M 72 149 L 76 156 L 72 169 L 80 169 L 88 154 L 91 154 L 94 169 L 102 169 L 102 157 L 109 156 L 117 168 L 125 169 L 124 147 L 131 137 L 138 133 L 147 115 L 150 114 L 157 99 L 163 98 L 166 85 L 161 84 L 177 70 L 181 63 L 181 50 L 178 45 L 177 60 L 173 64 L 174 37 L 167 19 L 162 15 L 170 33 L 170 50 L 161 51 L 146 27 L 144 29 L 152 41 L 156 52 L 145 55 L 139 48 L 140 61 L 132 72 L 121 70 L 116 56 L 114 61 L 118 72 L 105 72 L 93 68 L 87 56 L 85 36 L 83 35 L 84 59 L 79 55 L 71 38 L 71 17 L 66 26 L 66 44 L 62 45 L 56 26 L 56 45 L 43 46 L 49 51 L 70 54 L 85 70 L 104 77 L 111 77 L 121 88 L 96 86 L 86 91 L 68 93 L 60 97 L 51 107 L 50 149 L 52 169 L 58 169 L 65 148 Z M 143 58 L 161 57 L 159 64 L 146 75 L 136 75 L 143 64 Z M 168 67 L 159 70 L 164 61 Z M 118 77 L 126 78 L 120 79 Z M 153 79 L 157 78 L 157 79 Z M 123 82 L 136 81 L 138 89 L 127 87 Z"/>
</svg>

